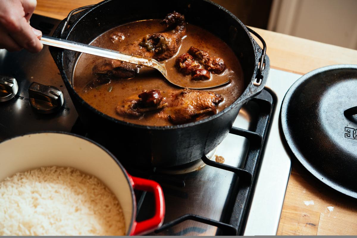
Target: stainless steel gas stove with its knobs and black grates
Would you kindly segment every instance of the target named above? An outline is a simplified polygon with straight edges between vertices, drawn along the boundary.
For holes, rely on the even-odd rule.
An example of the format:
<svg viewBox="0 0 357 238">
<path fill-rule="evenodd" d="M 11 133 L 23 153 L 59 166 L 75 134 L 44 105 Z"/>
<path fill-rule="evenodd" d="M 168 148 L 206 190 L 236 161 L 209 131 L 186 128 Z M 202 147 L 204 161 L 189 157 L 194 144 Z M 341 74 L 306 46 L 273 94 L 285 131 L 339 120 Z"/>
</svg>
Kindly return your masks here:
<svg viewBox="0 0 357 238">
<path fill-rule="evenodd" d="M 44 35 L 51 35 L 58 24 L 48 17 L 31 18 L 31 25 Z M 0 50 L 0 75 L 6 76 L 0 77 L 2 87 L 11 85 L 14 91 L 0 100 L 0 142 L 35 131 L 90 136 L 47 46 L 39 54 Z M 156 180 L 164 190 L 165 221 L 151 235 L 276 234 L 291 168 L 278 114 L 285 93 L 299 77 L 271 69 L 265 90 L 242 107 L 230 134 L 206 158 L 170 169 L 126 167 L 134 176 Z M 42 107 L 35 102 L 40 85 L 51 86 L 44 90 L 52 93 L 50 107 L 57 111 L 39 113 Z M 154 208 L 151 194 L 136 192 L 136 198 L 137 220 L 147 219 Z"/>
</svg>

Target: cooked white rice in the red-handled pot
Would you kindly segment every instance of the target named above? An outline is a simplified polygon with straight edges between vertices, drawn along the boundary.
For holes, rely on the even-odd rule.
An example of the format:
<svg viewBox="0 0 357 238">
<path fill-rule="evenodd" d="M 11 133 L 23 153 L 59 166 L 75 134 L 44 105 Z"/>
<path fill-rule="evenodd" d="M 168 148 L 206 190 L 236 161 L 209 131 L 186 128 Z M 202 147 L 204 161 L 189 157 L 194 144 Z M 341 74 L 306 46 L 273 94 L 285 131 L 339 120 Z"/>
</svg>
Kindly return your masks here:
<svg viewBox="0 0 357 238">
<path fill-rule="evenodd" d="M 96 177 L 42 167 L 0 182 L 0 235 L 125 235 L 119 201 Z"/>
</svg>

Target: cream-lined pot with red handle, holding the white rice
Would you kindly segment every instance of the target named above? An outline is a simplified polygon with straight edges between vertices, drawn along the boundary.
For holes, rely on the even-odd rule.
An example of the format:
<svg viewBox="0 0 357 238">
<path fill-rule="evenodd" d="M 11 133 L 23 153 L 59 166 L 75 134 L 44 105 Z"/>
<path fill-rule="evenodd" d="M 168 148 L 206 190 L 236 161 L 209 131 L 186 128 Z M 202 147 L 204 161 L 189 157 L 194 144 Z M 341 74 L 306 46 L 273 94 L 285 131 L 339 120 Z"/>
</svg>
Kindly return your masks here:
<svg viewBox="0 0 357 238">
<path fill-rule="evenodd" d="M 88 138 L 59 132 L 11 138 L 0 143 L 0 165 L 0 181 L 17 172 L 47 166 L 72 167 L 94 175 L 120 202 L 126 235 L 152 232 L 164 221 L 165 201 L 160 185 L 149 179 L 130 176 L 109 151 Z M 134 189 L 154 193 L 154 217 L 141 222 L 135 221 Z"/>
</svg>

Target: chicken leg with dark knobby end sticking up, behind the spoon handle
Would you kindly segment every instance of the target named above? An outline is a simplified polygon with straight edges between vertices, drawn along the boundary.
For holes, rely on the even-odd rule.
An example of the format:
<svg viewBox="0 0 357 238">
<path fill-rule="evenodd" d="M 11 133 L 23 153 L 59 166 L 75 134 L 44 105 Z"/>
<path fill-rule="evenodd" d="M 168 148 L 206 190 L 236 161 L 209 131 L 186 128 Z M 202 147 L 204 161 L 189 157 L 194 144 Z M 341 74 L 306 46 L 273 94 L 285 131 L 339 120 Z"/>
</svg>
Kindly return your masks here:
<svg viewBox="0 0 357 238">
<path fill-rule="evenodd" d="M 171 30 L 147 34 L 119 51 L 152 58 L 157 61 L 171 58 L 178 51 L 182 37 L 186 34 L 185 17 L 173 12 L 166 15 L 160 24 L 165 24 Z"/>
</svg>

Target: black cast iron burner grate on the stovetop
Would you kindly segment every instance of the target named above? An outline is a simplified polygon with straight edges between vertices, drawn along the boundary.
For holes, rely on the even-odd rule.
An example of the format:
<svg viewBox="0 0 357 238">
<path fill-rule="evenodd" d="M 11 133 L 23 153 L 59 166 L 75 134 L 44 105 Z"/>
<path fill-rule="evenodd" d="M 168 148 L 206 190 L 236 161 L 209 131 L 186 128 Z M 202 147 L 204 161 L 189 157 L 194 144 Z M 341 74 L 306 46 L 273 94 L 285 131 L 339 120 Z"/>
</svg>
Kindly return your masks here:
<svg viewBox="0 0 357 238">
<path fill-rule="evenodd" d="M 249 141 L 246 160 L 242 168 L 218 163 L 208 159 L 206 156 L 202 157 L 202 161 L 205 162 L 206 165 L 223 169 L 225 171 L 230 171 L 236 175 L 233 176 L 230 192 L 227 194 L 225 209 L 222 211 L 220 221 L 211 219 L 209 217 L 203 217 L 198 214 L 188 213 L 172 219 L 171 221 L 164 221 L 164 224 L 151 235 L 161 235 L 164 231 L 167 232 L 171 228 L 174 228 L 178 224 L 188 220 L 217 227 L 218 229 L 216 231 L 216 235 L 231 236 L 241 235 L 243 233 L 245 221 L 247 218 L 247 211 L 249 210 L 251 197 L 254 193 L 256 177 L 263 157 L 267 135 L 273 117 L 273 109 L 275 107 L 276 100 L 272 95 L 273 93 L 270 93 L 270 91 L 263 90 L 258 96 L 252 98 L 251 101 L 257 103 L 260 110 L 257 120 L 254 123 L 255 125 L 250 127 L 251 130 L 232 127 L 230 131 L 231 134 L 245 137 Z M 164 190 L 165 200 L 167 199 L 166 194 L 170 194 L 170 196 L 178 196 L 182 199 L 188 198 L 187 193 L 182 191 L 180 192 L 177 190 L 177 188 L 184 188 L 185 179 L 190 179 L 189 176 L 187 177 L 176 176 L 173 174 L 162 174 L 156 172 L 155 168 L 150 171 L 137 167 L 127 167 L 126 169 L 134 176 L 145 177 L 159 182 Z M 196 176 L 200 176 L 200 171 L 192 173 L 197 173 Z M 210 181 L 206 182 L 209 183 Z M 150 193 L 138 191 L 136 192 L 136 199 L 137 220 L 140 221 L 150 217 L 154 213 L 152 206 L 154 202 Z M 187 231 L 186 234 L 189 232 L 190 231 Z M 178 234 L 178 232 L 169 233 L 169 235 L 176 234 Z M 179 234 L 185 234 L 185 231 L 180 231 Z"/>
</svg>

